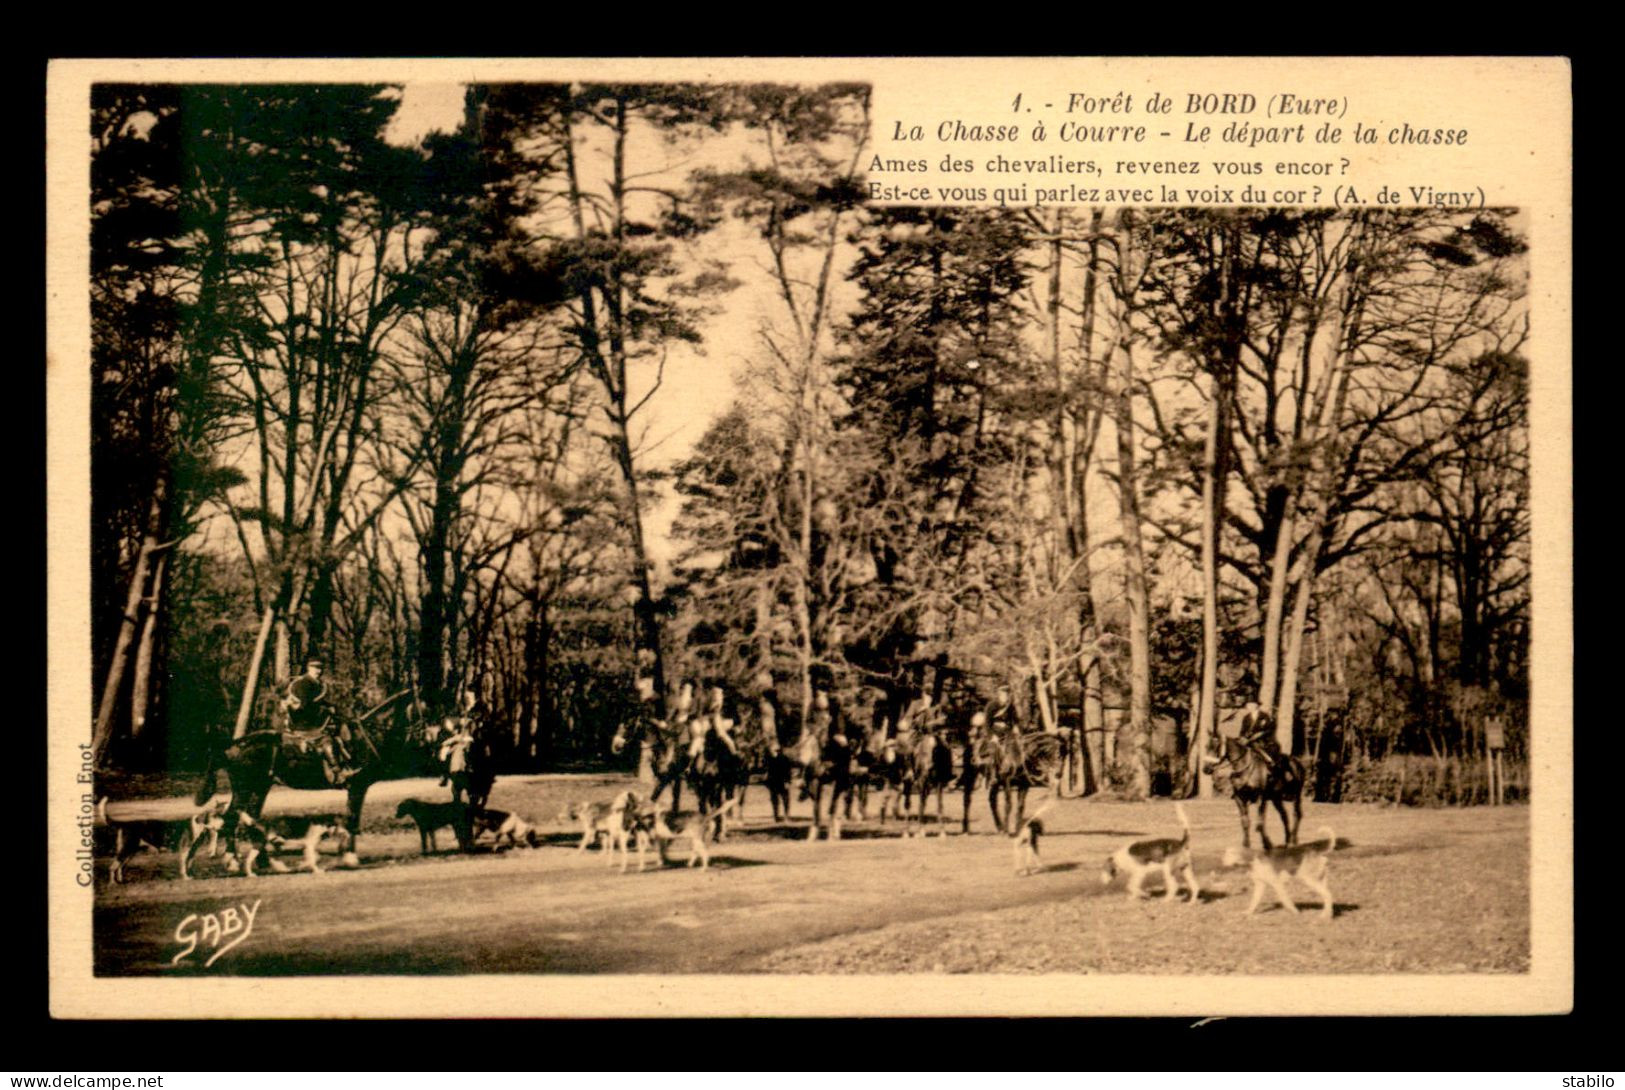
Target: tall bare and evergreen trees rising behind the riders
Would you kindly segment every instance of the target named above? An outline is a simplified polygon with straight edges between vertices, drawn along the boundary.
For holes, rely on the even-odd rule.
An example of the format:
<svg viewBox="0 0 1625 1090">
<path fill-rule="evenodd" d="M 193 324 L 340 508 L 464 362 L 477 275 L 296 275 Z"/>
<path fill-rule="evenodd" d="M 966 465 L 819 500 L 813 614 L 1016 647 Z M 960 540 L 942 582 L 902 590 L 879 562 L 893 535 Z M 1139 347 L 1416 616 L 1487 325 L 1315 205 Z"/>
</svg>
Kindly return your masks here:
<svg viewBox="0 0 1625 1090">
<path fill-rule="evenodd" d="M 1516 210 L 881 206 L 863 84 L 403 97 L 93 91 L 104 767 L 318 655 L 515 772 L 770 674 L 1009 686 L 1081 793 L 1201 793 L 1246 700 L 1323 799 L 1482 801 L 1490 716 L 1528 789 Z"/>
</svg>

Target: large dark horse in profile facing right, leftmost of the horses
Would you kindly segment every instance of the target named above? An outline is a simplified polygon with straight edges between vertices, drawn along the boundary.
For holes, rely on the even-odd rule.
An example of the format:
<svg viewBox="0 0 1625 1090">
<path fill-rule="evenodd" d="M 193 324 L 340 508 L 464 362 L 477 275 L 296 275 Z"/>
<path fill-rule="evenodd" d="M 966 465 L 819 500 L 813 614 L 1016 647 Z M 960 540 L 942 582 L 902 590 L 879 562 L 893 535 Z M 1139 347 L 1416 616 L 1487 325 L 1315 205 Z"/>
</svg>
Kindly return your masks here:
<svg viewBox="0 0 1625 1090">
<path fill-rule="evenodd" d="M 400 694 L 405 695 L 405 694 Z M 375 708 L 377 712 L 379 708 Z M 232 845 L 244 874 L 254 876 L 254 858 L 260 854 L 263 833 L 242 835 L 242 825 L 260 830 L 260 812 L 275 785 L 296 791 L 332 791 L 333 783 L 317 754 L 306 744 L 309 733 L 266 728 L 249 731 L 224 749 L 211 749 L 203 783 L 197 793 L 202 806 L 214 794 L 216 770 L 226 773 L 231 786 L 231 809 L 226 811 L 221 837 Z M 348 796 L 344 814 L 344 866 L 361 866 L 361 807 L 367 789 L 382 780 L 439 775 L 436 747 L 424 731 L 405 715 L 392 716 L 387 729 L 369 728 L 366 718 L 348 725 L 348 749 L 353 768 L 343 789 Z M 247 841 L 244 846 L 242 841 Z"/>
</svg>

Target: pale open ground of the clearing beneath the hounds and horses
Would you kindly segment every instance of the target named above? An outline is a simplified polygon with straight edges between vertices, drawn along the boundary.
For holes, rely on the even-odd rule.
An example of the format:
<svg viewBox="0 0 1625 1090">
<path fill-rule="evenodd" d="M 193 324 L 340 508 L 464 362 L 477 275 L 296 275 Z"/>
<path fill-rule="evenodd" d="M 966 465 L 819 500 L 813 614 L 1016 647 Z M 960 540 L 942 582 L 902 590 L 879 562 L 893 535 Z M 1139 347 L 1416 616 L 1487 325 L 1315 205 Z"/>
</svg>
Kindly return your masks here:
<svg viewBox="0 0 1625 1090">
<path fill-rule="evenodd" d="M 1063 799 L 1045 814 L 1043 871 L 1017 877 L 983 794 L 960 835 L 899 835 L 894 820 L 852 822 L 838 843 L 808 841 L 809 804 L 775 824 L 752 786 L 744 825 L 710 869 L 621 874 L 577 851 L 564 806 L 609 798 L 629 780 L 538 775 L 499 780 L 491 806 L 523 814 L 536 850 L 462 854 L 440 833 L 424 856 L 393 819 L 436 781 L 380 785 L 369 798 L 359 869 L 245 880 L 218 861 L 177 880 L 174 853 L 141 854 L 110 885 L 98 864 L 98 975 L 421 973 L 1524 973 L 1529 970 L 1529 811 L 1305 804 L 1303 840 L 1329 825 L 1336 916 L 1303 887 L 1298 915 L 1272 898 L 1245 918 L 1250 880 L 1224 869 L 1240 840 L 1232 802 L 1186 802 L 1199 905 L 1131 902 L 1102 884 L 1110 851 L 1178 835 L 1167 801 Z M 1029 812 L 1042 806 L 1038 793 Z M 273 807 L 275 809 L 275 807 Z M 1276 824 L 1271 815 L 1271 825 Z M 332 853 L 332 845 L 328 845 Z M 333 854 L 323 866 L 336 866 Z M 1147 884 L 1160 892 L 1159 879 Z M 177 960 L 187 928 L 228 908 L 254 910 L 252 932 L 205 967 L 210 947 Z M 188 923 L 190 921 L 190 923 Z M 206 936 L 205 936 L 206 937 Z"/>
</svg>

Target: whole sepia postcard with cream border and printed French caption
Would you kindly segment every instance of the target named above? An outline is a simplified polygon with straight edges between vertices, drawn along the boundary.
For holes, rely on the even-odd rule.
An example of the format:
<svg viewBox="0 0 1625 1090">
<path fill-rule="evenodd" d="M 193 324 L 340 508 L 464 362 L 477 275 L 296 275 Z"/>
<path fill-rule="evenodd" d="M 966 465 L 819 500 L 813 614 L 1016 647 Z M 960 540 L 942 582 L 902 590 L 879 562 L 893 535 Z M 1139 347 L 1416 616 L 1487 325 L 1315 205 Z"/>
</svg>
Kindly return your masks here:
<svg viewBox="0 0 1625 1090">
<path fill-rule="evenodd" d="M 47 81 L 55 1017 L 1573 1007 L 1563 58 Z"/>
</svg>

